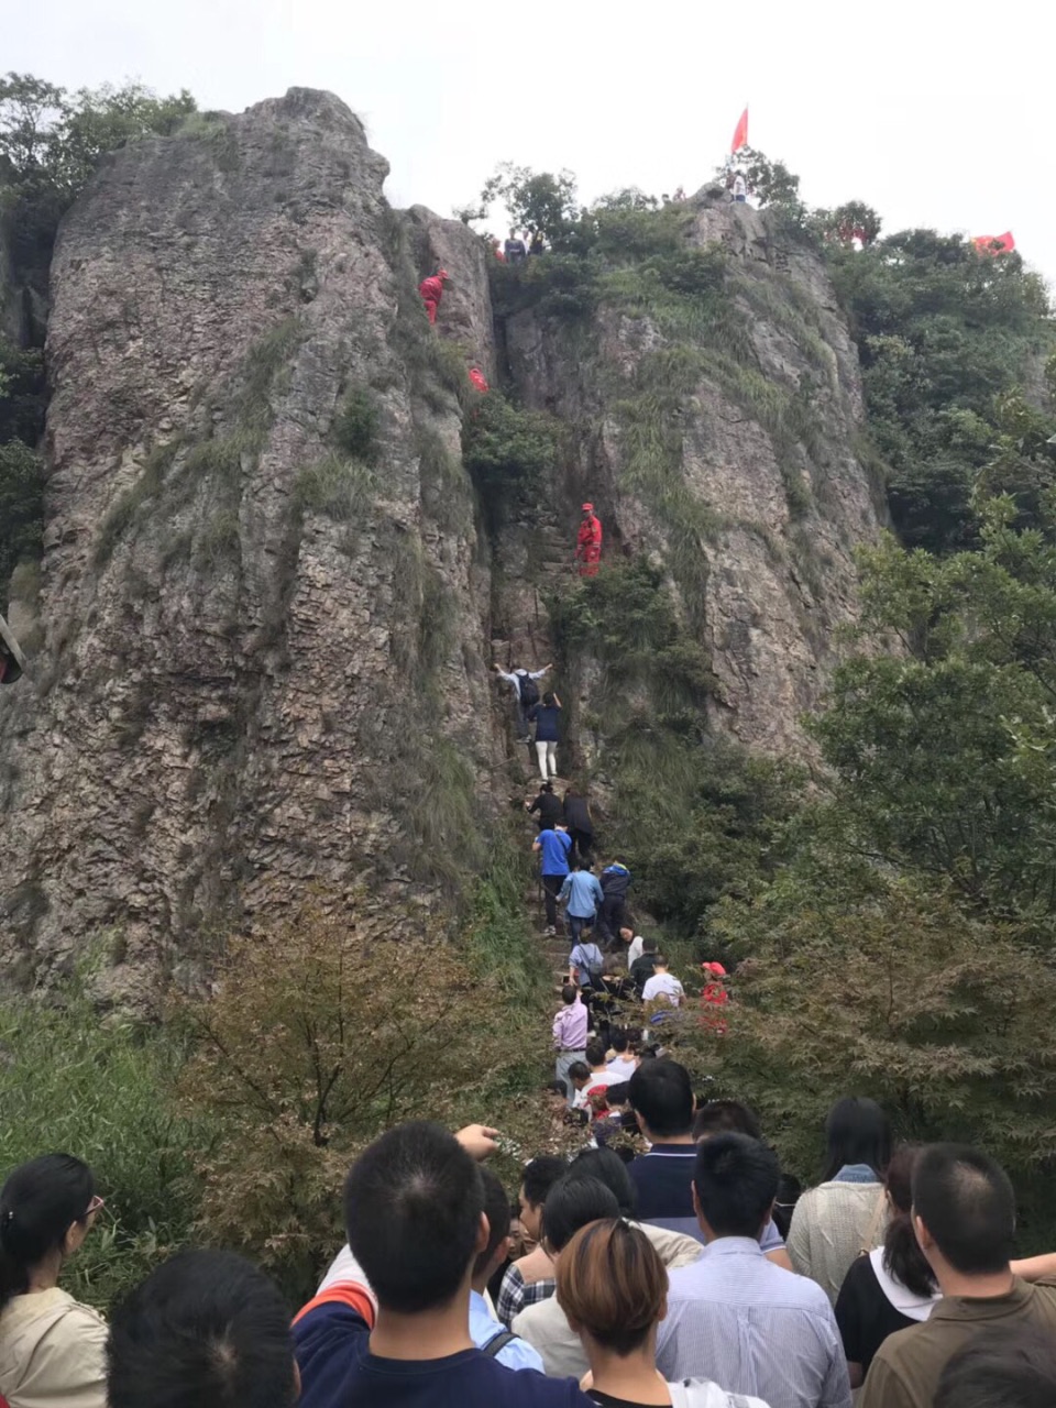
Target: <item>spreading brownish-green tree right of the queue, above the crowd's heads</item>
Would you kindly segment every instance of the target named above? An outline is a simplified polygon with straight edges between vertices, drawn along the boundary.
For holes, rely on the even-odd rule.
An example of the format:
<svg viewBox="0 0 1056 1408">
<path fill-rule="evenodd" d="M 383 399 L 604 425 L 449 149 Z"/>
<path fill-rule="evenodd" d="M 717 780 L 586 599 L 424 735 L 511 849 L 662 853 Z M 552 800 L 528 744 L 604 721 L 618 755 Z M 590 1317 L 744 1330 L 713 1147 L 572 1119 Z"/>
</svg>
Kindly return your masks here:
<svg viewBox="0 0 1056 1408">
<path fill-rule="evenodd" d="M 843 862 L 794 865 L 766 895 L 721 905 L 717 929 L 750 955 L 728 983 L 728 1031 L 690 1004 L 666 1039 L 758 1111 L 786 1167 L 814 1181 L 828 1108 L 872 1095 L 898 1138 L 966 1140 L 1000 1159 L 1024 1250 L 1049 1250 L 1056 972 L 1029 931 Z"/>
</svg>

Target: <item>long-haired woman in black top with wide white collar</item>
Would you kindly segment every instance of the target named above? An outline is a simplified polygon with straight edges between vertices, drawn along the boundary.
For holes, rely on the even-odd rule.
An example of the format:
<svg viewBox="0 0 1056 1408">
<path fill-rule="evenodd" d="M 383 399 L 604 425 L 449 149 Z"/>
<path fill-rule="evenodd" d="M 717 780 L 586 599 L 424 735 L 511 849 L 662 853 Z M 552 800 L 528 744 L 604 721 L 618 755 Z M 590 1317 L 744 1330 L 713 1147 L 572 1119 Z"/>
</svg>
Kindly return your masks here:
<svg viewBox="0 0 1056 1408">
<path fill-rule="evenodd" d="M 931 1267 L 912 1229 L 912 1170 L 919 1145 L 898 1145 L 887 1164 L 884 1245 L 852 1262 L 836 1297 L 836 1324 L 848 1356 L 850 1387 L 869 1373 L 888 1335 L 928 1319 L 939 1298 Z"/>
</svg>

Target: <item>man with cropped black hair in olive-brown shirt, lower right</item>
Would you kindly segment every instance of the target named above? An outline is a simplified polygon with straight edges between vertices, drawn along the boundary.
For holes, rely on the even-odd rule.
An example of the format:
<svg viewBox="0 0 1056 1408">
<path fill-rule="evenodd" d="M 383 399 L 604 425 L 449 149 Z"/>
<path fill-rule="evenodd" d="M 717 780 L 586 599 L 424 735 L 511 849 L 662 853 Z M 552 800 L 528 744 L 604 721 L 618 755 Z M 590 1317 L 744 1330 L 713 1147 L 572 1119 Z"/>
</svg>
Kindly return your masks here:
<svg viewBox="0 0 1056 1408">
<path fill-rule="evenodd" d="M 946 1362 L 988 1329 L 1056 1333 L 1056 1281 L 1029 1286 L 1008 1264 L 1015 1194 L 994 1159 L 966 1145 L 926 1148 L 912 1174 L 912 1219 L 942 1300 L 922 1325 L 883 1342 L 862 1408 L 931 1408 Z"/>
</svg>

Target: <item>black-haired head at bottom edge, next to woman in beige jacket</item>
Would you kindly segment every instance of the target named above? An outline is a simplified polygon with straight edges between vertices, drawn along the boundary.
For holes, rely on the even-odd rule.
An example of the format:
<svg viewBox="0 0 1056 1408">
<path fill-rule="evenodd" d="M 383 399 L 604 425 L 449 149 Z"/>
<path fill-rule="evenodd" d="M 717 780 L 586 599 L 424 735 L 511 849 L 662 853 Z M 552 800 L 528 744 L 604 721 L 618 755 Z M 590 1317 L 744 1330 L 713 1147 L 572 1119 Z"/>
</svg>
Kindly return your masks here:
<svg viewBox="0 0 1056 1408">
<path fill-rule="evenodd" d="M 120 1302 L 110 1408 L 291 1408 L 300 1383 L 279 1287 L 234 1252 L 180 1252 Z"/>
</svg>

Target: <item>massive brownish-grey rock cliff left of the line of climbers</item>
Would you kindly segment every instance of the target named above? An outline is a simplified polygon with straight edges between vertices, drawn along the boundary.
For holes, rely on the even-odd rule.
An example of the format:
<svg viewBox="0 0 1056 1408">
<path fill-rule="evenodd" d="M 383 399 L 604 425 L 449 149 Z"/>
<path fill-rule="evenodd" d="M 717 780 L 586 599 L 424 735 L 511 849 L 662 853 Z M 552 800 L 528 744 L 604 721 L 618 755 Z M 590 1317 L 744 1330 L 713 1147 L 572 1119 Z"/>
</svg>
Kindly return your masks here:
<svg viewBox="0 0 1056 1408">
<path fill-rule="evenodd" d="M 0 696 L 14 977 L 113 928 L 128 987 L 308 880 L 383 903 L 458 874 L 496 763 L 489 569 L 466 359 L 386 173 L 344 104 L 291 90 L 117 153 L 65 222 L 46 645 L 38 691 Z M 415 237 L 465 270 L 444 317 L 491 369 L 480 242 Z"/>
</svg>

